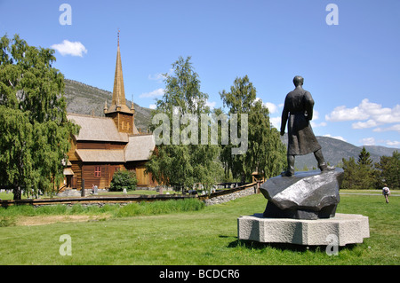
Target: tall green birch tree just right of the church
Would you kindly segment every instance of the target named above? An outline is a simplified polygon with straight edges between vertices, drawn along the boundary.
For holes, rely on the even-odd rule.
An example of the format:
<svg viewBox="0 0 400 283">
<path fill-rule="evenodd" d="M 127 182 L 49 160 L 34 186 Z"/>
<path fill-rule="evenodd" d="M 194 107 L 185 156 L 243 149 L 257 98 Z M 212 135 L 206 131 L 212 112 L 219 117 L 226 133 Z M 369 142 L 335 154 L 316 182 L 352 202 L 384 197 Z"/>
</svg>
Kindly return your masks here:
<svg viewBox="0 0 400 283">
<path fill-rule="evenodd" d="M 177 189 L 192 188 L 196 183 L 202 183 L 210 188 L 218 182 L 222 171 L 218 156 L 219 145 L 203 144 L 199 141 L 201 133 L 201 114 L 210 114 L 206 106 L 208 95 L 200 90 L 200 80 L 190 62 L 179 58 L 172 64 L 173 74 L 164 75 L 164 96 L 156 101 L 156 114 L 165 114 L 170 121 L 169 128 L 163 135 L 169 139 L 157 145 L 156 154 L 153 154 L 147 163 L 147 171 L 159 184 L 173 185 Z M 175 113 L 174 113 L 174 107 Z M 180 122 L 179 131 L 173 129 L 173 120 L 192 115 L 193 120 Z M 197 119 L 197 120 L 196 120 Z M 196 120 L 196 122 L 195 122 Z M 152 125 L 155 130 L 158 125 Z M 197 132 L 197 136 L 196 136 Z M 190 140 L 189 143 L 183 139 Z M 176 138 L 179 139 L 176 142 Z"/>
</svg>

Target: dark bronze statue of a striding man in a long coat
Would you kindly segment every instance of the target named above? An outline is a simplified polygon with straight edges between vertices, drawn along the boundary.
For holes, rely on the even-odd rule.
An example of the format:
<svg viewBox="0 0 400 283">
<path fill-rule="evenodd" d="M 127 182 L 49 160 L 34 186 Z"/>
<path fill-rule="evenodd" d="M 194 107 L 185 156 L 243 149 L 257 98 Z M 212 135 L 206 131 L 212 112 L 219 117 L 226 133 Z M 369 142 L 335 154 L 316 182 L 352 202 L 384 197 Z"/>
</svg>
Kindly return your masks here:
<svg viewBox="0 0 400 283">
<path fill-rule="evenodd" d="M 314 99 L 311 93 L 303 89 L 304 79 L 300 75 L 293 78 L 294 90 L 289 92 L 284 99 L 284 111 L 282 112 L 281 136 L 284 129 L 288 128 L 287 146 L 287 169 L 282 176 L 294 175 L 294 159 L 296 155 L 314 153 L 318 168 L 321 171 L 332 170 L 324 161 L 321 145 L 318 144 L 316 136 L 309 124 L 313 118 Z"/>
</svg>

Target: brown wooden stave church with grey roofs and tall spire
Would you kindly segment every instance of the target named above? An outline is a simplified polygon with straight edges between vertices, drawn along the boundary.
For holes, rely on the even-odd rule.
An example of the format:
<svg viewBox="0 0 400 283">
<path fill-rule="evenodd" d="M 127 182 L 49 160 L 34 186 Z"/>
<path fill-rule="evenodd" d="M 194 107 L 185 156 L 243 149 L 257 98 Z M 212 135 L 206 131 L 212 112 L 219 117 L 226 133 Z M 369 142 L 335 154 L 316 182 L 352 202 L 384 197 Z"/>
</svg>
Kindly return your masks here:
<svg viewBox="0 0 400 283">
<path fill-rule="evenodd" d="M 68 120 L 80 126 L 71 137 L 64 188 L 81 190 L 108 189 L 117 170 L 136 173 L 138 187 L 154 187 L 156 182 L 145 172 L 145 165 L 156 149 L 152 134 L 140 133 L 135 126 L 135 109 L 126 106 L 124 77 L 119 48 L 116 51 L 116 73 L 111 106 L 104 106 L 104 117 L 68 114 Z"/>
</svg>

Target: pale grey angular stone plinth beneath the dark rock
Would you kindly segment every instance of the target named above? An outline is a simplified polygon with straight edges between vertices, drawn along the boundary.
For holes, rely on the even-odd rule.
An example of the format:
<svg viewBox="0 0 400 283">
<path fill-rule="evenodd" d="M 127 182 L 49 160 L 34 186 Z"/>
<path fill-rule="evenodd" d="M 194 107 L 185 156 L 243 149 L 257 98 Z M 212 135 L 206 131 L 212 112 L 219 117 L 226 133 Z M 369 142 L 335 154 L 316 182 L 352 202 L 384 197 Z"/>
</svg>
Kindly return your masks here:
<svg viewBox="0 0 400 283">
<path fill-rule="evenodd" d="M 324 246 L 336 236 L 339 246 L 362 243 L 370 237 L 368 217 L 337 213 L 332 218 L 304 220 L 265 218 L 262 214 L 237 218 L 237 238 L 263 243 Z"/>
</svg>

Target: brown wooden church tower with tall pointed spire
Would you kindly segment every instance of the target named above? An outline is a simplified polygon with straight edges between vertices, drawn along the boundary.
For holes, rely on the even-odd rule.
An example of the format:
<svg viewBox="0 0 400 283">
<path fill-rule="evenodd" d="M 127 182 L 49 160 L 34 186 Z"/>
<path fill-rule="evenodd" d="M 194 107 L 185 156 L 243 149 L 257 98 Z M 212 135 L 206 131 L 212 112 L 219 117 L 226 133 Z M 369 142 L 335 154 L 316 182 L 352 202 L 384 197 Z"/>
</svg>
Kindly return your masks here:
<svg viewBox="0 0 400 283">
<path fill-rule="evenodd" d="M 138 130 L 135 127 L 135 109 L 133 106 L 131 109 L 126 106 L 125 90 L 124 90 L 124 77 L 122 72 L 121 64 L 121 53 L 119 50 L 119 30 L 118 30 L 118 45 L 116 49 L 116 73 L 114 75 L 114 89 L 113 99 L 111 106 L 104 106 L 104 114 L 106 117 L 112 118 L 116 123 L 116 128 L 119 132 L 128 134 L 137 134 Z"/>
</svg>

